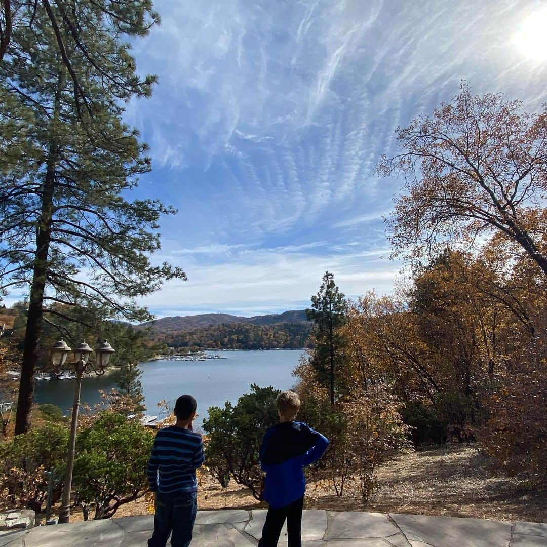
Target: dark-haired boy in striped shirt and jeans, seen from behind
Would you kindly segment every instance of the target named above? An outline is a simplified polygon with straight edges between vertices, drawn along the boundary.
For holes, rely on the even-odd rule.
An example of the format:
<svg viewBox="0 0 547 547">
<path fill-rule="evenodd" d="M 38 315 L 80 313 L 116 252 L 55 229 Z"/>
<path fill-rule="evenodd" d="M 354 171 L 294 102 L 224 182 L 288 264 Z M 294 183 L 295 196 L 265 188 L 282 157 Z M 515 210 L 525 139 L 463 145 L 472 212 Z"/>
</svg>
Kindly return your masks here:
<svg viewBox="0 0 547 547">
<path fill-rule="evenodd" d="M 177 423 L 156 433 L 148 462 L 148 482 L 154 492 L 154 533 L 148 547 L 165 547 L 172 532 L 172 547 L 188 547 L 197 511 L 196 469 L 203 463 L 201 435 L 192 422 L 197 403 L 181 395 L 174 406 Z"/>
</svg>

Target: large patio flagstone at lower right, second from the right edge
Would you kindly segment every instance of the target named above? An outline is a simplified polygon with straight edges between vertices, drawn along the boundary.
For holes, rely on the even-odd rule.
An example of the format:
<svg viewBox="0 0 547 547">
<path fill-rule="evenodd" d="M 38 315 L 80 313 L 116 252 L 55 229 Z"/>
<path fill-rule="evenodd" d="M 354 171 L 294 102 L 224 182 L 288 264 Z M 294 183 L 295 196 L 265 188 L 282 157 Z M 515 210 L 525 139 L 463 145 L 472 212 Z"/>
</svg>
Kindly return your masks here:
<svg viewBox="0 0 547 547">
<path fill-rule="evenodd" d="M 512 522 L 457 517 L 390 514 L 412 547 L 507 547 Z"/>
</svg>

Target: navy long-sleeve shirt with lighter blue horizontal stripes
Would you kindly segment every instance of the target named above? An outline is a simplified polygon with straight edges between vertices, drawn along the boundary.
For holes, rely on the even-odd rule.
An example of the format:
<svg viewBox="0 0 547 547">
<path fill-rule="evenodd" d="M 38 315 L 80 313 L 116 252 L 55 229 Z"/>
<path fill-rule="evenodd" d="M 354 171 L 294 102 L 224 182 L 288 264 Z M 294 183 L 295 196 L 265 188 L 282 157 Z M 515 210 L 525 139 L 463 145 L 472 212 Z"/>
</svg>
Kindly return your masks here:
<svg viewBox="0 0 547 547">
<path fill-rule="evenodd" d="M 162 494 L 197 492 L 196 469 L 203 464 L 199 433 L 177 426 L 156 433 L 148 462 L 148 484 Z"/>
</svg>

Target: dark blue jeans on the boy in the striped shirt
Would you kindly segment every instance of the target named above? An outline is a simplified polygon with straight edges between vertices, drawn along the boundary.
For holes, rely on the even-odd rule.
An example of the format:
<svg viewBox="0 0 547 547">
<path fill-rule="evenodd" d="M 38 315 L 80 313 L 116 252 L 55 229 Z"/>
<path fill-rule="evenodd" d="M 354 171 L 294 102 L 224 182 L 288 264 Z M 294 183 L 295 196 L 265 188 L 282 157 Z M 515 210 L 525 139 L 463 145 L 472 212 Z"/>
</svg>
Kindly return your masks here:
<svg viewBox="0 0 547 547">
<path fill-rule="evenodd" d="M 154 533 L 148 547 L 165 547 L 172 532 L 173 547 L 188 547 L 196 520 L 197 494 L 156 494 Z"/>
</svg>

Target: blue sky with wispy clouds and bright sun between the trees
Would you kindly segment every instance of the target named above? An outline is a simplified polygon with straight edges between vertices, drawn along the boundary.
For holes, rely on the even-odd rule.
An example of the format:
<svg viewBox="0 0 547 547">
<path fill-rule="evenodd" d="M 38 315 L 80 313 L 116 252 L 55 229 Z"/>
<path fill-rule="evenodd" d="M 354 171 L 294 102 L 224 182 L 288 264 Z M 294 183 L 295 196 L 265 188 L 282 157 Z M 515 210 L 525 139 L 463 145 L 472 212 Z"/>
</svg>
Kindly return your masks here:
<svg viewBox="0 0 547 547">
<path fill-rule="evenodd" d="M 182 266 L 144 304 L 157 317 L 310 305 L 325 270 L 356 298 L 390 293 L 379 178 L 395 129 L 458 93 L 547 100 L 547 2 L 155 0 L 133 46 L 159 84 L 127 105 L 153 172 L 134 197 L 178 208 L 154 260 Z"/>
</svg>

